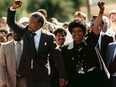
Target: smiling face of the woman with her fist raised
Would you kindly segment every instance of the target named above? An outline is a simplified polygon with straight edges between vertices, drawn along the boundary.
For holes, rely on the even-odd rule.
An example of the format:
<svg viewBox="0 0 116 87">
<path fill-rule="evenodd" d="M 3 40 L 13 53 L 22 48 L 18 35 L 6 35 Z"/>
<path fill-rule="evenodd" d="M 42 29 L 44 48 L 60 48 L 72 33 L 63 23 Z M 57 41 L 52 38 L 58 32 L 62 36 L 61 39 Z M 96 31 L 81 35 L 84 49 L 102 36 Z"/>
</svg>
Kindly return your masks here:
<svg viewBox="0 0 116 87">
<path fill-rule="evenodd" d="M 72 29 L 72 38 L 77 44 L 82 42 L 83 36 L 84 32 L 80 27 L 75 27 Z"/>
</svg>

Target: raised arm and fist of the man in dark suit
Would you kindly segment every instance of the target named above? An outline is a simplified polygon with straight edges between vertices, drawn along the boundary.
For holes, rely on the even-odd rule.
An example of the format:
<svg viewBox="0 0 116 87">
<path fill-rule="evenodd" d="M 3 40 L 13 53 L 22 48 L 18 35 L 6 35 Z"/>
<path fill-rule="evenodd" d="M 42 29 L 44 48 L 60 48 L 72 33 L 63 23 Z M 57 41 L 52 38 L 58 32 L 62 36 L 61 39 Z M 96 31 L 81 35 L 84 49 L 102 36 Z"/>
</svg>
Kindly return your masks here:
<svg viewBox="0 0 116 87">
<path fill-rule="evenodd" d="M 7 11 L 7 24 L 10 29 L 12 29 L 15 33 L 22 37 L 23 27 L 15 21 L 16 9 L 20 8 L 21 6 L 22 2 L 20 0 L 14 0 L 13 4 L 8 8 Z"/>
</svg>

